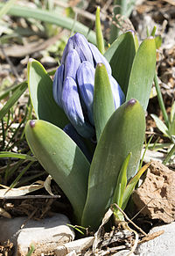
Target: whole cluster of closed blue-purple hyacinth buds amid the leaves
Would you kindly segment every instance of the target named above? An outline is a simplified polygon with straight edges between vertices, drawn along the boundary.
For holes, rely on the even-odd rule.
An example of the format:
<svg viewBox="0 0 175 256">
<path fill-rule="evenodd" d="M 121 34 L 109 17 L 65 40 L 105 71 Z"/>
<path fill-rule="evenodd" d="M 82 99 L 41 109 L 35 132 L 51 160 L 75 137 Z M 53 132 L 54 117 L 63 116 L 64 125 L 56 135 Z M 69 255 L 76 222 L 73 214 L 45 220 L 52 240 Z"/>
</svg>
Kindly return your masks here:
<svg viewBox="0 0 175 256">
<path fill-rule="evenodd" d="M 95 135 L 93 99 L 95 67 L 102 62 L 109 81 L 116 108 L 124 101 L 119 84 L 111 75 L 109 62 L 100 51 L 80 33 L 69 38 L 61 65 L 53 79 L 53 98 L 62 107 L 76 131 L 83 137 Z"/>
</svg>

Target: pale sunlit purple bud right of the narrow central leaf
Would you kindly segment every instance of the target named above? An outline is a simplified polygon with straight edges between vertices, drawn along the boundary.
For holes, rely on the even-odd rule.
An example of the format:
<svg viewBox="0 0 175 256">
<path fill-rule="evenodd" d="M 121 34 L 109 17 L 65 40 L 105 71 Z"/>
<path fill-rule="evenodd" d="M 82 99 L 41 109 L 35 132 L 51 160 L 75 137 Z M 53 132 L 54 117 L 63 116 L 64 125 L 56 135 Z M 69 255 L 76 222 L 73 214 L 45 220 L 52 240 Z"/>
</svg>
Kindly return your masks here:
<svg viewBox="0 0 175 256">
<path fill-rule="evenodd" d="M 116 79 L 114 77 L 109 76 L 109 81 L 115 102 L 115 108 L 118 108 L 125 101 L 125 96 L 120 85 L 116 82 Z"/>
</svg>

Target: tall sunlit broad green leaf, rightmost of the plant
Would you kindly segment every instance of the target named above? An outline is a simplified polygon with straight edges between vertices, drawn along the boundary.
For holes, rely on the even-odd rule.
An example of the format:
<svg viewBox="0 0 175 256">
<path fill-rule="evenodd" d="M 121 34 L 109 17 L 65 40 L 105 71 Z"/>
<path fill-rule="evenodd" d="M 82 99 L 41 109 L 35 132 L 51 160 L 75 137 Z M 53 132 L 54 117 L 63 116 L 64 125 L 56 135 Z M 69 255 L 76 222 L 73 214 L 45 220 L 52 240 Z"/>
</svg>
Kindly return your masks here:
<svg viewBox="0 0 175 256">
<path fill-rule="evenodd" d="M 134 58 L 130 71 L 126 100 L 137 99 L 144 107 L 148 106 L 151 94 L 151 86 L 156 67 L 156 44 L 154 38 L 148 38 L 142 42 Z"/>
</svg>

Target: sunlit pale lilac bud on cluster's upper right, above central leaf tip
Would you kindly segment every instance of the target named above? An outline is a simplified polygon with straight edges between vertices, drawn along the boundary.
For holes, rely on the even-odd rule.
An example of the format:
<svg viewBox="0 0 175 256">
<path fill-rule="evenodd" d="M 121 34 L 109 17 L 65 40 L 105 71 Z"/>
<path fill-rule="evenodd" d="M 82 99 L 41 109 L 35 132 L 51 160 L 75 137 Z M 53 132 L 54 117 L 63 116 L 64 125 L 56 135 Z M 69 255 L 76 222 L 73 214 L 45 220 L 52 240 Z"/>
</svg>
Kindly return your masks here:
<svg viewBox="0 0 175 256">
<path fill-rule="evenodd" d="M 101 52 L 98 48 L 95 47 L 95 45 L 88 43 L 88 46 L 93 54 L 95 67 L 97 63 L 103 63 L 107 69 L 108 74 L 111 75 L 111 68 L 107 59 L 101 54 Z"/>
</svg>

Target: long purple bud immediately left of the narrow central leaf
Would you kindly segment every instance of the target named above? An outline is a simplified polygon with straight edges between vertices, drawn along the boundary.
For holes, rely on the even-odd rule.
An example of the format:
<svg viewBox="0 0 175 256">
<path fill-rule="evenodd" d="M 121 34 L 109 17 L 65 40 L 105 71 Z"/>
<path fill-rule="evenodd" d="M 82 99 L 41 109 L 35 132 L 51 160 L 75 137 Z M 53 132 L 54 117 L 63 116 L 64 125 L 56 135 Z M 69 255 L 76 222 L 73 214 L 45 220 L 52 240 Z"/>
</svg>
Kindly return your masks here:
<svg viewBox="0 0 175 256">
<path fill-rule="evenodd" d="M 94 125 L 93 98 L 95 84 L 95 68 L 90 62 L 82 62 L 77 70 L 77 83 L 81 99 L 88 110 L 88 119 Z"/>
</svg>

